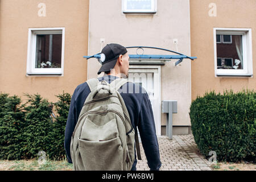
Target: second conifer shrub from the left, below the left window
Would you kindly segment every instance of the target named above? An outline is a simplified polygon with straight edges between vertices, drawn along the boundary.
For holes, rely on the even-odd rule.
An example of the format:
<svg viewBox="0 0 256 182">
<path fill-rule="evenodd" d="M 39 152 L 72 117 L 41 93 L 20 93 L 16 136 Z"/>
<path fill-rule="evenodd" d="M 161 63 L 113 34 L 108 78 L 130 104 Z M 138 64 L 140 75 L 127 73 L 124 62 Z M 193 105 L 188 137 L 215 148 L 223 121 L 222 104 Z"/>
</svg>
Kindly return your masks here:
<svg viewBox="0 0 256 182">
<path fill-rule="evenodd" d="M 26 139 L 24 146 L 24 155 L 26 158 L 32 159 L 38 155 L 39 151 L 45 151 L 51 144 L 49 132 L 51 131 L 51 111 L 47 100 L 43 99 L 39 94 L 25 94 L 28 97 L 25 107 L 26 110 L 26 128 L 24 128 L 23 137 Z"/>
</svg>

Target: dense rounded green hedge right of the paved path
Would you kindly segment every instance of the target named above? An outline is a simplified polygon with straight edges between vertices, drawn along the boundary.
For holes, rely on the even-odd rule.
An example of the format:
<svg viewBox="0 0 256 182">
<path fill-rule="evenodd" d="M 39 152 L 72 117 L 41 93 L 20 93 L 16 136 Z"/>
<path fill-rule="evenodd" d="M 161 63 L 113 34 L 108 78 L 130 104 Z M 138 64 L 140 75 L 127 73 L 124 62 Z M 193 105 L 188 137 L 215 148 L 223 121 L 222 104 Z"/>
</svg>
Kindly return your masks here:
<svg viewBox="0 0 256 182">
<path fill-rule="evenodd" d="M 192 102 L 189 115 L 195 142 L 206 158 L 215 151 L 218 161 L 256 162 L 254 91 L 205 93 Z"/>
</svg>

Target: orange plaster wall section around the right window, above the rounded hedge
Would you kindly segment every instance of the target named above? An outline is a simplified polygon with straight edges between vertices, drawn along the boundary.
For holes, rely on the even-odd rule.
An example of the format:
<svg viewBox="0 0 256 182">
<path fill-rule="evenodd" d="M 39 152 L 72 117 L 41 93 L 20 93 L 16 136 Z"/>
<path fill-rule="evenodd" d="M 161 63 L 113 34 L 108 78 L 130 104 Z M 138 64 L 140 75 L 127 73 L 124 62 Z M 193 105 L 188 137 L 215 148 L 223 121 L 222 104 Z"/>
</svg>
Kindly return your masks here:
<svg viewBox="0 0 256 182">
<path fill-rule="evenodd" d="M 216 16 L 209 16 L 210 3 L 217 6 Z M 191 11 L 191 54 L 197 56 L 192 62 L 192 100 L 203 96 L 208 90 L 223 93 L 243 88 L 256 89 L 253 77 L 215 77 L 213 28 L 251 28 L 253 45 L 253 73 L 256 73 L 256 1 L 255 0 L 192 0 Z"/>
</svg>

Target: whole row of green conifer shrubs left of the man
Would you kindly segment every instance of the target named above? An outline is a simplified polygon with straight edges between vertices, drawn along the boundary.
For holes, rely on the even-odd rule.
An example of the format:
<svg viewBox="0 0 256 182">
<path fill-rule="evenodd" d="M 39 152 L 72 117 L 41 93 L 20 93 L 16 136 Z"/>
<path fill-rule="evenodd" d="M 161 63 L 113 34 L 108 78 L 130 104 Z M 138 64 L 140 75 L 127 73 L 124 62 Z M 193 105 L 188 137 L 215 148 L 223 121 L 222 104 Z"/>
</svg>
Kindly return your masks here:
<svg viewBox="0 0 256 182">
<path fill-rule="evenodd" d="M 52 103 L 39 94 L 0 94 L 0 159 L 32 159 L 45 151 L 49 159 L 65 159 L 64 134 L 71 95 L 59 94 Z M 56 118 L 52 115 L 55 113 Z"/>
</svg>

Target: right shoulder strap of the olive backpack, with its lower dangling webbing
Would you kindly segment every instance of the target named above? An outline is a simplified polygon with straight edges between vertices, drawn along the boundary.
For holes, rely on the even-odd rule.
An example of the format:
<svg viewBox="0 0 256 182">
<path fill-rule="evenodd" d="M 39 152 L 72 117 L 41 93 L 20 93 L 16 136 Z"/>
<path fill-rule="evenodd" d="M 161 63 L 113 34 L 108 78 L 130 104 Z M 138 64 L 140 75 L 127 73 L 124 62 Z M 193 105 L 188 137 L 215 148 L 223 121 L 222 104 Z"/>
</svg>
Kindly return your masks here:
<svg viewBox="0 0 256 182">
<path fill-rule="evenodd" d="M 115 88 L 115 90 L 118 90 L 123 84 L 126 84 L 126 82 L 129 82 L 129 81 L 125 78 L 117 78 L 110 83 L 110 86 Z M 141 148 L 139 147 L 139 138 L 138 138 L 137 127 L 135 128 L 135 146 L 136 146 L 136 151 L 137 151 L 137 157 L 139 160 L 142 160 Z"/>
</svg>

